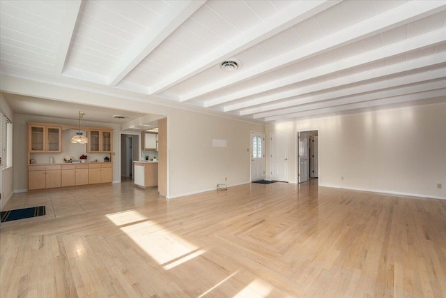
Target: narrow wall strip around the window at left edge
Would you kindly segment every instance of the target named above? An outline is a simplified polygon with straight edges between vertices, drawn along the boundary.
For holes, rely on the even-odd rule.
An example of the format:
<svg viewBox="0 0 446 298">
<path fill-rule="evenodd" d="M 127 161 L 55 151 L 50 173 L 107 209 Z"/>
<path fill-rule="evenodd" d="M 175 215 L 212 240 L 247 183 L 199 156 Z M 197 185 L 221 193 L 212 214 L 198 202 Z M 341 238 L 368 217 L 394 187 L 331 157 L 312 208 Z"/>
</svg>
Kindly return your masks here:
<svg viewBox="0 0 446 298">
<path fill-rule="evenodd" d="M 0 110 L 5 114 L 6 117 L 13 122 L 13 131 L 15 131 L 15 119 L 13 115 L 13 111 L 11 110 L 8 102 L 3 98 L 3 94 L 0 94 Z M 4 128 L 6 131 L 6 127 Z M 3 131 L 3 136 L 5 133 Z M 3 140 L 4 141 L 4 140 Z M 14 133 L 13 133 L 13 151 L 14 151 Z M 4 143 L 3 143 L 4 144 Z M 15 152 L 13 153 L 13 157 L 15 156 Z M 6 161 L 2 161 L 2 163 L 6 163 Z M 0 193 L 1 193 L 1 201 L 0 201 L 0 210 L 6 205 L 8 200 L 13 195 L 13 172 L 15 169 L 15 163 L 13 161 L 13 166 L 8 167 L 8 169 L 3 170 L 0 168 Z"/>
</svg>

